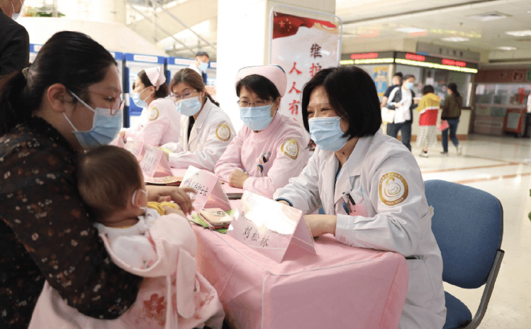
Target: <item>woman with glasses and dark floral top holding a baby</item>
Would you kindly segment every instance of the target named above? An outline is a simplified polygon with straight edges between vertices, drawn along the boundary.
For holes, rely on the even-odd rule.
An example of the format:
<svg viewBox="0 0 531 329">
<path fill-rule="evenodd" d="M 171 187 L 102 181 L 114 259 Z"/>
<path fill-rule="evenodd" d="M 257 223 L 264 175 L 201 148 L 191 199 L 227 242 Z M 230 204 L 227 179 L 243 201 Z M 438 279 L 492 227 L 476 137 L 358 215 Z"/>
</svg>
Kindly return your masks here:
<svg viewBox="0 0 531 329">
<path fill-rule="evenodd" d="M 45 281 L 93 318 L 117 318 L 135 301 L 142 279 L 111 262 L 76 181 L 79 155 L 118 135 L 121 94 L 111 54 L 69 31 L 52 35 L 27 72 L 0 79 L 0 328 L 28 326 Z M 147 199 L 169 196 L 189 213 L 186 191 L 150 186 Z"/>
</svg>

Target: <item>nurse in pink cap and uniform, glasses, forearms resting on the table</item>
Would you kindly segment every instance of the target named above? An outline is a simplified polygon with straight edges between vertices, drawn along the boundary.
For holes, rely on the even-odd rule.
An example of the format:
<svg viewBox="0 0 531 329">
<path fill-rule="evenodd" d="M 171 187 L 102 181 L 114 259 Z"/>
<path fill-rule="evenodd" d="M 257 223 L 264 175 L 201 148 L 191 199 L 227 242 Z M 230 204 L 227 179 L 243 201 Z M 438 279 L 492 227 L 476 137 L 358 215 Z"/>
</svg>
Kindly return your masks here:
<svg viewBox="0 0 531 329">
<path fill-rule="evenodd" d="M 230 186 L 272 198 L 308 163 L 308 140 L 301 126 L 278 113 L 286 93 L 286 72 L 278 65 L 245 67 L 236 76 L 240 118 L 245 126 L 214 172 Z"/>
</svg>

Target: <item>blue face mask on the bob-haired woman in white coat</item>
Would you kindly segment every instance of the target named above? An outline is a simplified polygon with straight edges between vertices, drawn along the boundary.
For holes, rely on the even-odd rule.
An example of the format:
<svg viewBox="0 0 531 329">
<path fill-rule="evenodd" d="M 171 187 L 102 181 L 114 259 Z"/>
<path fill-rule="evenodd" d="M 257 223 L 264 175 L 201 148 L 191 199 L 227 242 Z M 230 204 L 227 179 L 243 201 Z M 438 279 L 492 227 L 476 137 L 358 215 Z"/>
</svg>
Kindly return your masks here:
<svg viewBox="0 0 531 329">
<path fill-rule="evenodd" d="M 340 122 L 339 116 L 308 120 L 311 138 L 321 150 L 338 151 L 345 146 L 349 138 L 343 137 Z"/>
</svg>

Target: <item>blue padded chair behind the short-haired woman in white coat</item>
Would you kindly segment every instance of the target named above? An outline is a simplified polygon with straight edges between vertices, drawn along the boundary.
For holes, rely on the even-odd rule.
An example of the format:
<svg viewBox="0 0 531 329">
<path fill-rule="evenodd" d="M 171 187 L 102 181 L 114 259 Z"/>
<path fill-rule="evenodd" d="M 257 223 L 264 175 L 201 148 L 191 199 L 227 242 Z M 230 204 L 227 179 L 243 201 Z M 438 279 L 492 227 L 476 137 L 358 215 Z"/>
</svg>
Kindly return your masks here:
<svg viewBox="0 0 531 329">
<path fill-rule="evenodd" d="M 435 212 L 432 230 L 441 250 L 443 281 L 466 289 L 485 284 L 474 318 L 462 301 L 445 291 L 443 329 L 477 328 L 505 253 L 500 249 L 503 208 L 498 198 L 486 191 L 438 179 L 425 182 L 425 194 Z"/>
</svg>

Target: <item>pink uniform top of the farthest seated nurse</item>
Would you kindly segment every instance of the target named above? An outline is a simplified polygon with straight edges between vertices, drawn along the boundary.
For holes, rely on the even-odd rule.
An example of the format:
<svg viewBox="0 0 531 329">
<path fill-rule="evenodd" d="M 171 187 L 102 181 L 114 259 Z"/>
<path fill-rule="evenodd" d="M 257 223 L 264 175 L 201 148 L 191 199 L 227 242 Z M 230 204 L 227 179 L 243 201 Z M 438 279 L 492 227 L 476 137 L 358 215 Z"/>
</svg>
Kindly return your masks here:
<svg viewBox="0 0 531 329">
<path fill-rule="evenodd" d="M 124 139 L 133 138 L 148 145 L 160 146 L 179 141 L 181 113 L 171 99 L 155 99 L 142 109 L 136 126 L 125 128 Z"/>
</svg>

